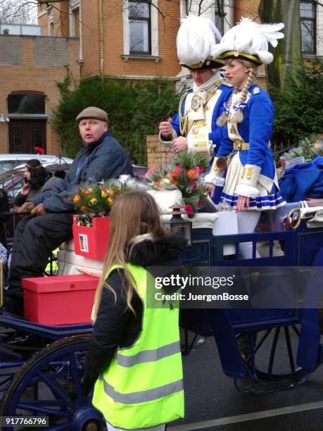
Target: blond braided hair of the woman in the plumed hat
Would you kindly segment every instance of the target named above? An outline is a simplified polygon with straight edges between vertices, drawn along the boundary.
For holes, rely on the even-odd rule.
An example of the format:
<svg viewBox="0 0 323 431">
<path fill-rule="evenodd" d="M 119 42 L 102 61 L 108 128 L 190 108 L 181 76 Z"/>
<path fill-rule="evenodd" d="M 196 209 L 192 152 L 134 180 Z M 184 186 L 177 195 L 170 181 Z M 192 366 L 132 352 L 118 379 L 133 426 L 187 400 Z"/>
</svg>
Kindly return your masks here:
<svg viewBox="0 0 323 431">
<path fill-rule="evenodd" d="M 247 99 L 249 88 L 251 87 L 251 85 L 253 85 L 253 82 L 255 82 L 255 80 L 257 79 L 258 66 L 255 65 L 255 63 L 252 63 L 251 61 L 243 60 L 242 58 L 234 58 L 234 60 L 239 61 L 239 63 L 242 63 L 247 68 L 250 68 L 249 74 L 248 74 L 248 80 L 246 80 L 246 84 L 243 86 L 242 92 L 239 97 L 239 101 L 237 102 L 238 104 L 243 104 Z M 230 61 L 232 61 L 232 58 L 230 58 L 230 60 L 228 60 L 227 63 L 229 63 Z M 235 87 L 227 103 L 228 110 L 229 108 L 231 108 L 232 98 L 234 94 L 236 94 L 237 92 L 238 92 L 238 87 Z M 229 115 L 227 115 L 227 113 L 225 112 L 222 112 L 220 117 L 217 118 L 217 125 L 219 126 L 227 125 L 228 120 L 230 123 L 242 123 L 243 121 L 242 110 L 238 109 L 235 113 L 229 113 Z"/>
</svg>

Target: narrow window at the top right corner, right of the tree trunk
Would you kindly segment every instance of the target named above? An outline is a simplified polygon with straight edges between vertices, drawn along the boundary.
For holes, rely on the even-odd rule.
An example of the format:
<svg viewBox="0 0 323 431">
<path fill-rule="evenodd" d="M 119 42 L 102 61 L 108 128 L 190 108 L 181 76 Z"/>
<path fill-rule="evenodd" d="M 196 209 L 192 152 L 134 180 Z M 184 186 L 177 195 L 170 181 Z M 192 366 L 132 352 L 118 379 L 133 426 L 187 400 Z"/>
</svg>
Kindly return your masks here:
<svg viewBox="0 0 323 431">
<path fill-rule="evenodd" d="M 316 54 L 316 4 L 300 2 L 300 34 L 304 54 Z"/>
</svg>

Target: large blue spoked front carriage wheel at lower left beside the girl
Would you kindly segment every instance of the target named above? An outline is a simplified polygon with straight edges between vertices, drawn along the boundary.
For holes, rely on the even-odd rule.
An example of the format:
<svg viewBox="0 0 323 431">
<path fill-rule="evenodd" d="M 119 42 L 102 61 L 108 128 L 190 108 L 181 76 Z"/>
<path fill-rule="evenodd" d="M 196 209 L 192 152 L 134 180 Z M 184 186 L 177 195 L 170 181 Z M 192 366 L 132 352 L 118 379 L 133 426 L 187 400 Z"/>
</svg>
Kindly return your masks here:
<svg viewBox="0 0 323 431">
<path fill-rule="evenodd" d="M 68 337 L 32 356 L 13 377 L 0 415 L 48 416 L 46 429 L 52 431 L 102 430 L 102 417 L 84 399 L 80 384 L 88 342 L 89 335 Z M 24 428 L 15 427 L 18 429 Z"/>
</svg>

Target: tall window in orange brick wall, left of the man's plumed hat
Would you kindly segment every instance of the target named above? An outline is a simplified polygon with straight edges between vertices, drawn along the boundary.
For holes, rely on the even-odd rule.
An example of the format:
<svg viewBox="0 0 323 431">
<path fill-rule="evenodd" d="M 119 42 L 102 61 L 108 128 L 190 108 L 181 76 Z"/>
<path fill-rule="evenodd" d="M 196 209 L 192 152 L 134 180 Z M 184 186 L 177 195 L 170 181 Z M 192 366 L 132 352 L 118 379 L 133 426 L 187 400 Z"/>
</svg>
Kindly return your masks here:
<svg viewBox="0 0 323 431">
<path fill-rule="evenodd" d="M 129 54 L 151 54 L 149 1 L 129 1 Z"/>
</svg>

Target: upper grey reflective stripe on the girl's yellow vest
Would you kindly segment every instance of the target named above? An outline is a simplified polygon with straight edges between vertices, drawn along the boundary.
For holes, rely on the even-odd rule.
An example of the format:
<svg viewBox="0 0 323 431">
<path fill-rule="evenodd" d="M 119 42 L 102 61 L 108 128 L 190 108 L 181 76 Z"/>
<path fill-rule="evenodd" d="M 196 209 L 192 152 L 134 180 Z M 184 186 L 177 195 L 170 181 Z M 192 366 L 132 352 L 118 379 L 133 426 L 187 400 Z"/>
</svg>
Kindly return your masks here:
<svg viewBox="0 0 323 431">
<path fill-rule="evenodd" d="M 177 353 L 180 353 L 181 345 L 179 342 L 167 344 L 166 346 L 159 347 L 156 350 L 144 350 L 139 354 L 133 356 L 125 356 L 120 353 L 116 355 L 118 365 L 122 367 L 132 367 L 137 363 L 156 362 L 159 359 L 166 358 Z"/>
</svg>

